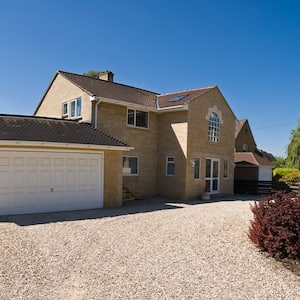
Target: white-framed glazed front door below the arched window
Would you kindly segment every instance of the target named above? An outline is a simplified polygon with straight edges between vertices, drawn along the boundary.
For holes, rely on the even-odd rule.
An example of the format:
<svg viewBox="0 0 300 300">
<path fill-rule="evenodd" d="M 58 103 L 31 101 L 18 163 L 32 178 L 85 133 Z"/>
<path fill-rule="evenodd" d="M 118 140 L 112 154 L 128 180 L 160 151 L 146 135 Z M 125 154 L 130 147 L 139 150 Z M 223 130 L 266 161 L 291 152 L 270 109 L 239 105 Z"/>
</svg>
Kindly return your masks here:
<svg viewBox="0 0 300 300">
<path fill-rule="evenodd" d="M 205 193 L 218 194 L 220 191 L 220 160 L 206 159 Z"/>
</svg>

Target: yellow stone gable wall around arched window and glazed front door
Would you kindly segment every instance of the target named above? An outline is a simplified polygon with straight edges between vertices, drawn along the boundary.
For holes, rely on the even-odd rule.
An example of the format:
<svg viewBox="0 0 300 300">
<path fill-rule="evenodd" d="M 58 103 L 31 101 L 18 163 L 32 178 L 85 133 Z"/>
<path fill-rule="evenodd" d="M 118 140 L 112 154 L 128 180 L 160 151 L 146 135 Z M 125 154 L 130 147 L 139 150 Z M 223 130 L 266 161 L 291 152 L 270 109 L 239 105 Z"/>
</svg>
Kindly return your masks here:
<svg viewBox="0 0 300 300">
<path fill-rule="evenodd" d="M 220 141 L 208 141 L 207 115 L 212 110 L 221 113 Z M 234 133 L 235 116 L 222 94 L 217 90 L 203 95 L 189 103 L 188 113 L 188 156 L 187 156 L 187 185 L 186 198 L 199 198 L 205 191 L 206 158 L 219 159 L 220 193 L 232 194 L 234 183 Z M 190 160 L 201 159 L 200 180 L 194 179 L 194 168 Z M 229 161 L 229 176 L 224 178 L 224 160 Z"/>
</svg>

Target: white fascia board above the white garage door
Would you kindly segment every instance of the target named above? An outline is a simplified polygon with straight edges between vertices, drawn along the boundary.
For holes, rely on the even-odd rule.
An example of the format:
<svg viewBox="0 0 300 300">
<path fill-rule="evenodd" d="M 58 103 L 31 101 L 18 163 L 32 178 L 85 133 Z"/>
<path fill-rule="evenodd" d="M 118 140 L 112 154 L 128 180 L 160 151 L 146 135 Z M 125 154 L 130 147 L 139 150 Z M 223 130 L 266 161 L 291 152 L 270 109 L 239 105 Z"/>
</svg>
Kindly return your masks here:
<svg viewBox="0 0 300 300">
<path fill-rule="evenodd" d="M 0 141 L 0 147 L 48 147 L 48 148 L 80 148 L 89 150 L 119 150 L 130 151 L 134 147 L 127 146 L 109 146 L 94 144 L 73 144 L 73 143 L 57 143 L 57 142 L 35 142 L 35 141 Z"/>
</svg>

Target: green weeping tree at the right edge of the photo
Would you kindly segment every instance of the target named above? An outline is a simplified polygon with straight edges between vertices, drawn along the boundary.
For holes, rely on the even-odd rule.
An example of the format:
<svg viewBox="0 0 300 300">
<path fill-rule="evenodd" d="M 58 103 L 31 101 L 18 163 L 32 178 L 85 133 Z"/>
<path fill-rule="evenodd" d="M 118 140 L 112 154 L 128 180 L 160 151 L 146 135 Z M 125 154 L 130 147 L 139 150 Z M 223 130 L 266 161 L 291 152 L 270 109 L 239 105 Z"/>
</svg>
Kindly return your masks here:
<svg viewBox="0 0 300 300">
<path fill-rule="evenodd" d="M 300 123 L 291 131 L 290 143 L 287 147 L 285 165 L 300 170 Z"/>
</svg>

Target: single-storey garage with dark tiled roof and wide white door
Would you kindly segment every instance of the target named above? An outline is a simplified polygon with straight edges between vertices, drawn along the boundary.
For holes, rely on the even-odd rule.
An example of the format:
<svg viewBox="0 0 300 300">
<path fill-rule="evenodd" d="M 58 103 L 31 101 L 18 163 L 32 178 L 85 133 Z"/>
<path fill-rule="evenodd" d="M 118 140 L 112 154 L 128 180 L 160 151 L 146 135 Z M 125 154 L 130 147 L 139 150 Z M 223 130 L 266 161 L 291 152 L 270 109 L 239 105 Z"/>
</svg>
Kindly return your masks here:
<svg viewBox="0 0 300 300">
<path fill-rule="evenodd" d="M 0 115 L 0 215 L 120 206 L 130 149 L 85 123 Z"/>
</svg>

